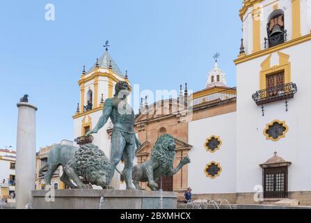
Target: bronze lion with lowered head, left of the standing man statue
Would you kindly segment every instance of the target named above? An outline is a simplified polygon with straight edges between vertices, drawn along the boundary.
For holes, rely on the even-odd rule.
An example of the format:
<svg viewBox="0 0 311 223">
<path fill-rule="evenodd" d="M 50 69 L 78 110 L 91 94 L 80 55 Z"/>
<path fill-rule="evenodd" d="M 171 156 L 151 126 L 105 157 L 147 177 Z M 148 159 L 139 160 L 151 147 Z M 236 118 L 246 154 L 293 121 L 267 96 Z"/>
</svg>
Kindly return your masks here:
<svg viewBox="0 0 311 223">
<path fill-rule="evenodd" d="M 47 169 L 45 185 L 51 185 L 51 178 L 58 167 L 63 167 L 61 180 L 72 189 L 92 189 L 92 185 L 111 189 L 109 185 L 111 164 L 104 152 L 93 144 L 80 146 L 80 148 L 67 145 L 58 145 L 51 149 L 47 164 L 40 169 Z M 85 184 L 81 180 L 88 180 Z M 73 180 L 74 185 L 70 180 Z"/>
</svg>

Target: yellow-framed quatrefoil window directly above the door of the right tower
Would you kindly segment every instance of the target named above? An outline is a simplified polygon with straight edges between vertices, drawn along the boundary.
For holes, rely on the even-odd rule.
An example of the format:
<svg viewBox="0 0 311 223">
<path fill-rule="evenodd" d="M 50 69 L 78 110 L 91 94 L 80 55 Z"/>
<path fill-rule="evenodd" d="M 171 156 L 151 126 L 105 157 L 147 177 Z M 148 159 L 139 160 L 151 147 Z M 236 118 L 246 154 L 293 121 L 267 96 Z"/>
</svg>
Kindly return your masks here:
<svg viewBox="0 0 311 223">
<path fill-rule="evenodd" d="M 285 124 L 285 121 L 275 120 L 266 125 L 264 129 L 264 135 L 267 140 L 278 141 L 282 138 L 285 138 L 285 134 L 288 131 L 288 126 Z"/>
</svg>

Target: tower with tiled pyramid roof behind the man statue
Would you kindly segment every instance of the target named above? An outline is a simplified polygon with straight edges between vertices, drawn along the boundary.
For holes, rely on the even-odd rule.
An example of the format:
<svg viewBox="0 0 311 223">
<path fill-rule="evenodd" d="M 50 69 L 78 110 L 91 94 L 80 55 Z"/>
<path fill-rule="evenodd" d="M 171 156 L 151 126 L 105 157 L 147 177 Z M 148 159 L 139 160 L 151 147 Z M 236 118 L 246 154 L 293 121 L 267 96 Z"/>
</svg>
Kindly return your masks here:
<svg viewBox="0 0 311 223">
<path fill-rule="evenodd" d="M 77 112 L 74 114 L 74 139 L 77 144 L 88 144 L 92 142 L 103 149 L 106 155 L 110 155 L 110 135 L 112 128 L 111 121 L 108 121 L 98 134 L 91 137 L 84 137 L 88 130 L 97 124 L 102 116 L 104 101 L 113 97 L 115 84 L 120 81 L 129 82 L 127 72 L 125 75 L 120 71 L 118 65 L 112 59 L 106 42 L 104 54 L 96 59 L 95 64 L 86 71 L 83 67 L 82 75 L 79 79 L 80 100 Z"/>
</svg>

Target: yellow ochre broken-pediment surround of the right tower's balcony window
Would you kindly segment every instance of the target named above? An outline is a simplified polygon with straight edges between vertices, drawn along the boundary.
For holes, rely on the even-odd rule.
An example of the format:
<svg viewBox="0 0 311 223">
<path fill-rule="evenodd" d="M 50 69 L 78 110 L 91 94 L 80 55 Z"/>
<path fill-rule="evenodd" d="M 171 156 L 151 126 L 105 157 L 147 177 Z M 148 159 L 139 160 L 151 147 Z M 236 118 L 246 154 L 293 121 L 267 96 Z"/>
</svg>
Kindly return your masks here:
<svg viewBox="0 0 311 223">
<path fill-rule="evenodd" d="M 266 89 L 266 76 L 273 75 L 276 72 L 284 71 L 285 84 L 292 81 L 291 63 L 289 62 L 289 55 L 278 52 L 279 66 L 271 67 L 271 55 L 269 55 L 264 62 L 262 62 L 262 70 L 260 71 L 260 90 Z"/>
</svg>

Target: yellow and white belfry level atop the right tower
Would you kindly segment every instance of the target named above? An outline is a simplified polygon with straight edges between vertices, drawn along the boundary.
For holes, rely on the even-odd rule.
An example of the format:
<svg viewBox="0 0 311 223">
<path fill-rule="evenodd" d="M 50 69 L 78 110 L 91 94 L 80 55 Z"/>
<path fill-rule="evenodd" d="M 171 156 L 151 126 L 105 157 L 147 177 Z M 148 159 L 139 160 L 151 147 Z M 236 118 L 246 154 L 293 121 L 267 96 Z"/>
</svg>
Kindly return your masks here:
<svg viewBox="0 0 311 223">
<path fill-rule="evenodd" d="M 244 0 L 239 12 L 246 55 L 310 34 L 308 0 Z"/>
</svg>

